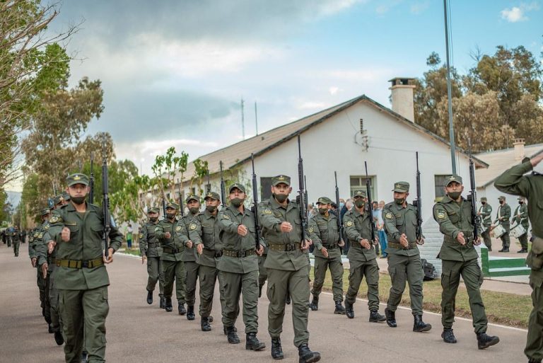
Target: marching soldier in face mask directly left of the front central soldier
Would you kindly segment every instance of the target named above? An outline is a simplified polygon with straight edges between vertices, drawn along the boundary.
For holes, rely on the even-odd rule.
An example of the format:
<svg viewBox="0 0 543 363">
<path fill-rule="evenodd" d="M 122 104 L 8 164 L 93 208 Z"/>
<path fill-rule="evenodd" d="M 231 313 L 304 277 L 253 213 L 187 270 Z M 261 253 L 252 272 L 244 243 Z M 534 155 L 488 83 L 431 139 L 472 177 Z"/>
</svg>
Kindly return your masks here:
<svg viewBox="0 0 543 363">
<path fill-rule="evenodd" d="M 224 284 L 223 324 L 230 344 L 240 342 L 234 331 L 237 306 L 243 294 L 243 323 L 246 350 L 263 350 L 258 331 L 258 259 L 264 247 L 255 241 L 255 216 L 245 206 L 245 187 L 235 183 L 229 188 L 230 206 L 218 213 L 218 229 L 223 256 L 217 264 Z M 259 241 L 258 241 L 259 242 Z"/>
</svg>

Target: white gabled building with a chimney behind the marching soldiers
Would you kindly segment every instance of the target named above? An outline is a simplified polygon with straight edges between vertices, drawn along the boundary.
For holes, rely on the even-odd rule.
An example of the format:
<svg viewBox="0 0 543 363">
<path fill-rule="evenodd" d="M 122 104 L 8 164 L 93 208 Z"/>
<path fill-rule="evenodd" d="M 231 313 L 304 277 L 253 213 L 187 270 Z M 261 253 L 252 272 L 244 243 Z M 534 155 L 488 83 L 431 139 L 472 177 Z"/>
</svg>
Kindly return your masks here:
<svg viewBox="0 0 543 363">
<path fill-rule="evenodd" d="M 411 184 L 411 202 L 416 198 L 416 159 L 419 152 L 423 218 L 435 224 L 432 207 L 436 197 L 443 196 L 443 181 L 451 173 L 450 146 L 444 139 L 414 123 L 413 89 L 409 79 L 392 79 L 392 110 L 368 96 L 359 96 L 327 110 L 309 115 L 246 139 L 237 144 L 201 156 L 209 163 L 211 189 L 219 191 L 219 162 L 224 169 L 235 171 L 236 177 L 226 173 L 230 182 L 244 183 L 250 188 L 251 153 L 255 154 L 255 171 L 259 184 L 259 200 L 270 195 L 271 177 L 290 175 L 293 194 L 298 190 L 298 144 L 301 138 L 303 166 L 307 178 L 308 201 L 327 196 L 334 200 L 334 171 L 340 197 L 347 199 L 354 190 L 365 190 L 364 161 L 373 185 L 372 200 L 392 201 L 392 185 L 404 180 Z M 479 168 L 486 163 L 475 159 Z M 457 171 L 469 180 L 469 159 L 457 152 Z M 194 163 L 185 172 L 185 180 L 194 175 Z M 206 180 L 202 180 L 206 183 Z M 227 185 L 228 188 L 228 185 Z M 177 188 L 176 188 L 177 189 Z M 183 183 L 183 193 L 205 189 L 204 185 Z M 176 193 L 177 194 L 177 193 Z M 252 197 L 250 189 L 247 190 Z M 176 195 L 177 198 L 177 195 Z M 427 236 L 428 237 L 428 236 Z M 432 240 L 432 241 L 430 241 Z M 427 238 L 423 248 L 432 263 L 436 260 L 442 236 Z"/>
</svg>

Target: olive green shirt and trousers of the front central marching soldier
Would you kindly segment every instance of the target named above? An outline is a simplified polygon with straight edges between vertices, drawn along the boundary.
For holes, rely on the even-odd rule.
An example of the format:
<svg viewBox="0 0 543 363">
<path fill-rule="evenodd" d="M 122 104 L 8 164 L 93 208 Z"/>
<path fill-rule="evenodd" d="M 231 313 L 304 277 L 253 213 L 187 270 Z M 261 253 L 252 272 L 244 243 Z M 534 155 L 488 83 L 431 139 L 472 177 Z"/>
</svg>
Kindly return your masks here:
<svg viewBox="0 0 543 363">
<path fill-rule="evenodd" d="M 281 206 L 274 198 L 259 206 L 262 234 L 268 243 L 268 257 L 264 267 L 268 272 L 267 296 L 268 332 L 271 338 L 280 338 L 283 331 L 286 294 L 291 295 L 294 345 L 309 341 L 309 258 L 300 249 L 302 224 L 296 202 Z M 292 231 L 281 232 L 281 223 L 288 221 Z"/>
</svg>

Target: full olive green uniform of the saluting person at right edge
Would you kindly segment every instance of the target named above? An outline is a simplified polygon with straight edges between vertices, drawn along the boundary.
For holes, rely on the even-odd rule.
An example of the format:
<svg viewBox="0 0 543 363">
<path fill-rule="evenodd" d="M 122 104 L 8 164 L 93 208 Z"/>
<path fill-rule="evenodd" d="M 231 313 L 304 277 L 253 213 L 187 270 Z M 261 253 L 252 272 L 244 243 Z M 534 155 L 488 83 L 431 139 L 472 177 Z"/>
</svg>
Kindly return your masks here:
<svg viewBox="0 0 543 363">
<path fill-rule="evenodd" d="M 532 250 L 526 263 L 531 267 L 533 309 L 528 321 L 525 355 L 534 361 L 543 359 L 543 175 L 524 175 L 532 171 L 532 163 L 513 166 L 496 178 L 494 186 L 501 192 L 526 197 L 528 217 L 532 224 Z M 534 251 L 536 249 L 536 251 Z M 537 254 L 536 254 L 537 253 Z"/>
</svg>

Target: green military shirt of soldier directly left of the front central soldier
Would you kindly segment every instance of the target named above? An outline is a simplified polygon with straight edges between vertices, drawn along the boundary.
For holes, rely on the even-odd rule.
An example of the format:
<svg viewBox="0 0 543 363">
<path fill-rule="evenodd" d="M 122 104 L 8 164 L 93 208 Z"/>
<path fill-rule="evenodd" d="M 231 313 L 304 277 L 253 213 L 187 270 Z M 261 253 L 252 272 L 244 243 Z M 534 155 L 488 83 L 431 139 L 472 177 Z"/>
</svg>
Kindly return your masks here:
<svg viewBox="0 0 543 363">
<path fill-rule="evenodd" d="M 249 230 L 245 236 L 238 234 L 238 226 L 243 224 Z M 225 254 L 218 261 L 218 270 L 233 273 L 247 273 L 258 270 L 256 253 L 245 257 L 230 257 L 226 251 L 254 251 L 255 243 L 255 216 L 247 208 L 243 213 L 232 204 L 218 212 L 218 229 Z"/>
</svg>

